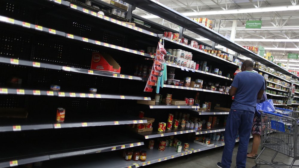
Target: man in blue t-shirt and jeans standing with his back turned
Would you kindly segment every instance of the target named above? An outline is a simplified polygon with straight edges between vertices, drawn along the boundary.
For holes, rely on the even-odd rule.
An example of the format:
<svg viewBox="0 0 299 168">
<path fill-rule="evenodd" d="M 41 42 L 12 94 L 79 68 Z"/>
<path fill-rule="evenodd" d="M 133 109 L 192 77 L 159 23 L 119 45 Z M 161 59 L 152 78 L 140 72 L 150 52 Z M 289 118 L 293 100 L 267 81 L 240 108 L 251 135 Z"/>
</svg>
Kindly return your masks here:
<svg viewBox="0 0 299 168">
<path fill-rule="evenodd" d="M 245 60 L 231 84 L 229 95 L 235 96 L 226 120 L 222 160 L 217 163 L 220 168 L 230 168 L 231 158 L 235 146 L 235 139 L 239 132 L 239 147 L 237 153 L 237 168 L 246 167 L 246 155 L 252 127 L 257 99 L 261 99 L 265 90 L 262 75 L 253 72 L 253 62 Z"/>
</svg>

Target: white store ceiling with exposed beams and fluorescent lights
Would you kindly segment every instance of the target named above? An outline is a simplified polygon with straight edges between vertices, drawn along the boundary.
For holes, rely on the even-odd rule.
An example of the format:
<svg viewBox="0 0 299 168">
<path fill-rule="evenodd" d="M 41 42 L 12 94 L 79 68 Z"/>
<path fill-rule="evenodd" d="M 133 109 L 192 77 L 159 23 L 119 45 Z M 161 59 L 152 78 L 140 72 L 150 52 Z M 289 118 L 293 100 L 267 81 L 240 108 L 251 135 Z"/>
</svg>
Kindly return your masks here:
<svg viewBox="0 0 299 168">
<path fill-rule="evenodd" d="M 267 47 L 266 51 L 271 52 L 277 61 L 287 60 L 287 53 L 299 53 L 298 0 L 159 0 L 159 2 L 173 10 L 186 14 L 190 18 L 206 17 L 215 19 L 214 30 L 218 32 L 220 27 L 219 33 L 227 37 L 231 34 L 233 20 L 221 19 L 237 19 L 235 41 L 243 46 Z M 239 12 L 236 13 L 236 9 L 239 9 Z M 263 12 L 256 12 L 257 10 Z M 200 15 L 196 15 L 198 12 L 200 12 Z M 179 26 L 152 16 L 152 14 L 141 9 L 137 8 L 133 13 L 174 30 L 179 30 Z M 262 19 L 262 28 L 245 30 L 247 19 Z M 190 31 L 185 32 L 185 34 L 205 40 Z M 204 42 L 209 43 L 209 41 Z M 287 50 L 283 50 L 285 48 Z M 292 65 L 297 65 L 298 62 L 294 63 L 294 61 L 297 60 L 292 60 Z M 299 64 L 290 67 L 299 70 Z"/>
</svg>

